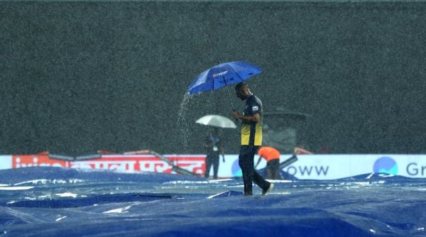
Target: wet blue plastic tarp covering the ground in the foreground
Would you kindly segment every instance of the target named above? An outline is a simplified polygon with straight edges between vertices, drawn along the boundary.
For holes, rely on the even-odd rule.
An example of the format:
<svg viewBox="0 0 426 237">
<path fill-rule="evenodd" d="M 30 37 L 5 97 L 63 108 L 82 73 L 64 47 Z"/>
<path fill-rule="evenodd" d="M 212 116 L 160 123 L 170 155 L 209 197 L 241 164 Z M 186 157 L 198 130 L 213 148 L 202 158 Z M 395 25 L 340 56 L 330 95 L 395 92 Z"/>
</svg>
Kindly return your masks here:
<svg viewBox="0 0 426 237">
<path fill-rule="evenodd" d="M 425 236 L 425 184 L 380 174 L 274 180 L 0 170 L 0 236 Z"/>
</svg>

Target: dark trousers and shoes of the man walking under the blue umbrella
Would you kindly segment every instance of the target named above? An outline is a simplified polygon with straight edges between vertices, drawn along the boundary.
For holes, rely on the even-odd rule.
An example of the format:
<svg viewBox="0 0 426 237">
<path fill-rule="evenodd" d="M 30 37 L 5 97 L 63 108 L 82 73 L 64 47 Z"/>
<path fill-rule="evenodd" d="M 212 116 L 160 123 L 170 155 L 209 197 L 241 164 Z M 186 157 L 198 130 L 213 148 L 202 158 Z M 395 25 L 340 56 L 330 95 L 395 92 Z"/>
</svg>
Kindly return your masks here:
<svg viewBox="0 0 426 237">
<path fill-rule="evenodd" d="M 254 169 L 254 155 L 258 150 L 258 146 L 241 145 L 239 153 L 239 166 L 243 172 L 244 194 L 253 195 L 253 182 L 261 187 L 268 189 L 269 182 L 263 179 L 261 175 Z"/>
</svg>

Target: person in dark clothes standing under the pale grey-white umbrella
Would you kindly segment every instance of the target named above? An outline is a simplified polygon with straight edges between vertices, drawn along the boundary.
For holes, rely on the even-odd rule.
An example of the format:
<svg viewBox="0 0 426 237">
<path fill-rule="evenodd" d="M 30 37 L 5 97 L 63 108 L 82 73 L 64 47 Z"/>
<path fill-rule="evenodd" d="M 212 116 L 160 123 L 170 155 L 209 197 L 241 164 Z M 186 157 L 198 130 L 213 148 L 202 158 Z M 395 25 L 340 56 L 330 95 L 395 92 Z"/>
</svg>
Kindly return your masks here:
<svg viewBox="0 0 426 237">
<path fill-rule="evenodd" d="M 210 169 L 213 166 L 213 178 L 217 180 L 217 172 L 219 171 L 219 155 L 222 155 L 222 160 L 225 162 L 224 148 L 221 145 L 221 140 L 218 135 L 217 128 L 212 128 L 204 144 L 206 148 L 206 171 L 204 177 L 208 178 Z"/>
</svg>

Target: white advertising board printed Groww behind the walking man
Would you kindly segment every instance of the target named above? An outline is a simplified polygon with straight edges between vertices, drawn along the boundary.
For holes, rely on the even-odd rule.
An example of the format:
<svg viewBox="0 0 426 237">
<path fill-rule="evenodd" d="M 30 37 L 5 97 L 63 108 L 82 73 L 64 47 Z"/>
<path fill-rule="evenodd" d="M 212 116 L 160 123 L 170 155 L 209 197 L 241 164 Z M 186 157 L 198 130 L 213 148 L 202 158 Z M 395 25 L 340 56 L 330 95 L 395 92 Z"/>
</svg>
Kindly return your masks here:
<svg viewBox="0 0 426 237">
<path fill-rule="evenodd" d="M 280 162 L 291 155 L 281 155 Z M 283 170 L 300 180 L 335 180 L 356 175 L 386 172 L 404 177 L 426 177 L 426 155 L 297 155 L 297 161 Z M 256 164 L 258 156 L 254 158 Z M 257 167 L 265 167 L 262 160 Z M 213 170 L 210 171 L 212 175 Z M 219 164 L 219 177 L 239 177 L 238 155 L 225 155 Z"/>
</svg>

